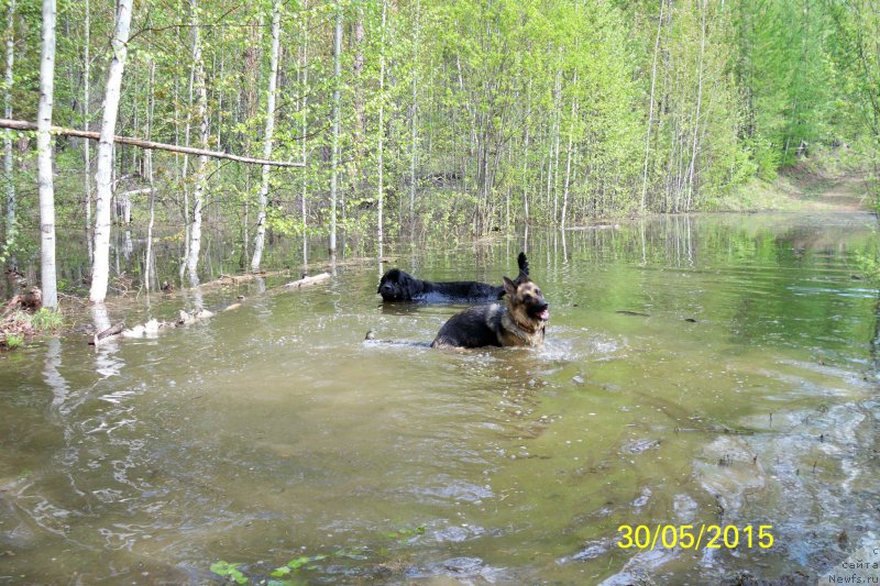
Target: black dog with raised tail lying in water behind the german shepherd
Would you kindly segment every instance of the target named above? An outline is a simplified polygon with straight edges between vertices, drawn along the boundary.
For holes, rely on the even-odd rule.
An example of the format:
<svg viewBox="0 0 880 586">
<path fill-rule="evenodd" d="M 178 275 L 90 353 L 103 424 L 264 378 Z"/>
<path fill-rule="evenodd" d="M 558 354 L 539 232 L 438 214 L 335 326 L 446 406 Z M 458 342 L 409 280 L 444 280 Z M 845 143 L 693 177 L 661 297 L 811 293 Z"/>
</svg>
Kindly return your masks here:
<svg viewBox="0 0 880 586">
<path fill-rule="evenodd" d="M 525 253 L 517 257 L 520 279 L 528 278 L 529 263 Z M 382 276 L 376 290 L 383 301 L 495 301 L 504 296 L 505 288 L 477 283 L 474 280 L 431 281 L 420 280 L 400 270 L 392 268 Z"/>
</svg>

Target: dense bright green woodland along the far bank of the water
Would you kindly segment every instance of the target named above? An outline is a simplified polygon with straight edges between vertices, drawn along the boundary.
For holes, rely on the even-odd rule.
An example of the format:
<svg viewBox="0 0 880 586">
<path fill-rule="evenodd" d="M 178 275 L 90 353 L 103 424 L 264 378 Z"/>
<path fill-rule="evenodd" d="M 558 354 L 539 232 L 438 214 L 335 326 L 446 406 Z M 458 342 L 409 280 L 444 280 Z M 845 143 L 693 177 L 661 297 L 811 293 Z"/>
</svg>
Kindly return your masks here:
<svg viewBox="0 0 880 586">
<path fill-rule="evenodd" d="M 7 131 L 4 263 L 46 233 L 41 155 L 96 267 L 112 217 L 177 237 L 191 275 L 202 222 L 258 269 L 267 234 L 707 210 L 829 152 L 876 177 L 869 0 L 6 0 L 6 119 L 38 120 L 47 8 L 52 124 L 301 166 Z"/>
</svg>

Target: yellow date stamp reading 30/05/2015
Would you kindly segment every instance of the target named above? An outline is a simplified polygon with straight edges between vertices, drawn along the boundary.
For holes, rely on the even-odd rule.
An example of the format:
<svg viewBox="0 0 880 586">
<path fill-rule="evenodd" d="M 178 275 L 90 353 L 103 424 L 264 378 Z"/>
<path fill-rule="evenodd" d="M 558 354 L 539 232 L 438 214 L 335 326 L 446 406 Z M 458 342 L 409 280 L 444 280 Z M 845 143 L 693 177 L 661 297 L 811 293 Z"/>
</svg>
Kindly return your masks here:
<svg viewBox="0 0 880 586">
<path fill-rule="evenodd" d="M 735 524 L 674 526 L 658 523 L 653 527 L 622 524 L 617 528 L 617 532 L 620 534 L 617 546 L 622 550 L 630 548 L 653 550 L 658 545 L 663 549 L 678 545 L 684 550 L 698 550 L 705 543 L 705 546 L 712 550 L 722 548 L 733 550 L 740 546 L 751 549 L 756 545 L 767 550 L 773 546 L 772 529 L 771 524 L 757 527 L 747 524 L 741 529 Z"/>
</svg>

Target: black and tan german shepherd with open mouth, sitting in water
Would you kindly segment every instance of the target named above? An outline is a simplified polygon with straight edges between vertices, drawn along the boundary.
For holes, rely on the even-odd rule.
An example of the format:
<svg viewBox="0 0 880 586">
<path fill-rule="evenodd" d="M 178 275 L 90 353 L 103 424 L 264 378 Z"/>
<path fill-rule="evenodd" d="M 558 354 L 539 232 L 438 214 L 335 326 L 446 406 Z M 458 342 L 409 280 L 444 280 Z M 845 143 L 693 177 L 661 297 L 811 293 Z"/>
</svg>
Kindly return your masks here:
<svg viewBox="0 0 880 586">
<path fill-rule="evenodd" d="M 539 346 L 550 319 L 548 303 L 528 278 L 504 277 L 502 302 L 474 306 L 447 321 L 431 347 Z"/>
</svg>

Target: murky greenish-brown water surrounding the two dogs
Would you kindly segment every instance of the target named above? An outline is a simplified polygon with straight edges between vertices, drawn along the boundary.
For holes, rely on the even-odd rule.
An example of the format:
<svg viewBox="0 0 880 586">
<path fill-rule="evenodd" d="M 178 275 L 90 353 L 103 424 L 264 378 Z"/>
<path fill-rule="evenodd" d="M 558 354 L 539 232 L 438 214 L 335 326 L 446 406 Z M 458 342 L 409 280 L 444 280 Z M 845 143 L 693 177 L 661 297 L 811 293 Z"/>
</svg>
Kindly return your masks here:
<svg viewBox="0 0 880 586">
<path fill-rule="evenodd" d="M 383 308 L 380 267 L 346 264 L 301 291 L 206 291 L 248 299 L 157 339 L 2 354 L 0 582 L 219 583 L 226 561 L 255 583 L 300 557 L 278 579 L 816 576 L 880 537 L 878 291 L 850 277 L 872 222 L 532 232 L 542 350 L 365 343 L 429 342 L 455 308 Z M 495 281 L 521 247 L 395 264 Z M 755 542 L 624 550 L 623 524 L 754 526 Z"/>
</svg>

